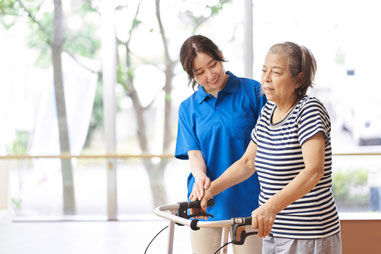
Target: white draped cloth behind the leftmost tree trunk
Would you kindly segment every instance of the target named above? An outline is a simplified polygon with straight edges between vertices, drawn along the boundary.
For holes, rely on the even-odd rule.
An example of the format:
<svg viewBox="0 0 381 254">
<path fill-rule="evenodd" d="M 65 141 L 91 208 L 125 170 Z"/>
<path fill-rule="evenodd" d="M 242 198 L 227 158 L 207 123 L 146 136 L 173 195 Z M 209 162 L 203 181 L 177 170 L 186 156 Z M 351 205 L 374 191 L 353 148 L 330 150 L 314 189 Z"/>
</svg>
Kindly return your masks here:
<svg viewBox="0 0 381 254">
<path fill-rule="evenodd" d="M 79 155 L 87 137 L 97 86 L 97 75 L 84 69 L 65 54 L 63 54 L 62 59 L 70 151 L 72 155 Z M 100 69 L 98 62 L 86 59 L 84 63 L 93 70 Z M 53 81 L 51 80 L 45 87 L 35 119 L 31 155 L 60 154 Z M 72 160 L 72 162 L 75 165 L 76 160 Z M 24 182 L 23 204 L 32 209 L 39 210 L 41 208 L 47 209 L 48 213 L 59 213 L 62 210 L 60 160 L 35 159 L 33 164 L 32 177 Z"/>
</svg>

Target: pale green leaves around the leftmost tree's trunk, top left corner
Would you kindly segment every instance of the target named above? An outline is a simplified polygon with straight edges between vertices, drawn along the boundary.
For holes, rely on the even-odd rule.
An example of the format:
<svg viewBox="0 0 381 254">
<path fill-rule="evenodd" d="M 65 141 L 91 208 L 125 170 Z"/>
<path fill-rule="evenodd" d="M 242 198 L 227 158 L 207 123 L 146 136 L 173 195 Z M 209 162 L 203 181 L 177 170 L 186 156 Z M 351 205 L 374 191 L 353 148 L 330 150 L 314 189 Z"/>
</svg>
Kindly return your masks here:
<svg viewBox="0 0 381 254">
<path fill-rule="evenodd" d="M 51 65 L 50 44 L 53 36 L 53 2 L 44 0 L 1 0 L 0 21 L 3 27 L 11 29 L 16 25 L 26 25 L 27 46 L 39 50 L 37 63 L 40 67 Z M 97 18 L 94 19 L 94 14 Z M 79 27 L 65 26 L 64 52 L 75 55 L 97 58 L 101 43 L 97 36 L 99 14 L 89 1 L 77 1 L 71 11 L 65 13 L 65 20 L 77 20 Z"/>
</svg>

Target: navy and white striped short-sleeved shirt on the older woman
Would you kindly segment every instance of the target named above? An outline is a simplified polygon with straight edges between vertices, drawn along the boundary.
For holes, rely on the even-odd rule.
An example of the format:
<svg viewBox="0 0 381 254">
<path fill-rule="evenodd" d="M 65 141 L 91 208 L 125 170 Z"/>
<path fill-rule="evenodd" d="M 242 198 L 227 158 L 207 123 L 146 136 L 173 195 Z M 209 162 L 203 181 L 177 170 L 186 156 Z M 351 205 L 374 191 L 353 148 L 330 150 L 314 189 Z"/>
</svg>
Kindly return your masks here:
<svg viewBox="0 0 381 254">
<path fill-rule="evenodd" d="M 303 97 L 279 123 L 271 119 L 276 105 L 262 108 L 251 138 L 257 144 L 255 168 L 260 182 L 259 205 L 281 191 L 304 168 L 302 145 L 319 132 L 325 134 L 324 176 L 302 198 L 277 214 L 271 233 L 293 239 L 325 238 L 340 232 L 332 194 L 331 122 L 323 104 Z"/>
</svg>

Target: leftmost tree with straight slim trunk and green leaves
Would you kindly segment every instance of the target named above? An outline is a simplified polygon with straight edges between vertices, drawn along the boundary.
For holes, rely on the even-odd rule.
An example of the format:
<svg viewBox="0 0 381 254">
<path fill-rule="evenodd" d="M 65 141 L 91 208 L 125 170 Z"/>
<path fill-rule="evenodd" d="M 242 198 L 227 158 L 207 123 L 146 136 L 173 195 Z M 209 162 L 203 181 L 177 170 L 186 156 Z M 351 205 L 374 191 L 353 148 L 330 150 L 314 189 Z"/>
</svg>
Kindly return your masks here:
<svg viewBox="0 0 381 254">
<path fill-rule="evenodd" d="M 54 4 L 53 12 L 49 8 L 52 4 Z M 78 8 L 77 12 L 81 12 L 83 9 L 89 10 L 88 6 L 86 1 L 82 2 L 81 5 L 76 6 Z M 76 54 L 93 56 L 99 48 L 99 43 L 94 38 L 90 39 L 90 36 L 86 36 L 83 32 L 70 33 L 71 31 L 65 28 L 61 0 L 54 0 L 53 2 L 43 0 L 3 0 L 0 2 L 0 11 L 2 13 L 1 23 L 6 29 L 11 29 L 19 23 L 28 25 L 30 28 L 28 44 L 32 48 L 40 49 L 41 52 L 37 64 L 44 67 L 50 64 L 53 66 L 60 152 L 61 154 L 70 154 L 66 102 L 63 89 L 62 53 L 66 52 L 77 61 Z M 84 31 L 88 32 L 89 30 Z M 69 43 L 68 38 L 70 39 Z M 91 42 L 86 44 L 86 46 L 90 45 L 91 47 L 83 47 L 84 41 Z M 61 168 L 64 213 L 74 214 L 76 205 L 71 160 L 61 159 Z"/>
</svg>

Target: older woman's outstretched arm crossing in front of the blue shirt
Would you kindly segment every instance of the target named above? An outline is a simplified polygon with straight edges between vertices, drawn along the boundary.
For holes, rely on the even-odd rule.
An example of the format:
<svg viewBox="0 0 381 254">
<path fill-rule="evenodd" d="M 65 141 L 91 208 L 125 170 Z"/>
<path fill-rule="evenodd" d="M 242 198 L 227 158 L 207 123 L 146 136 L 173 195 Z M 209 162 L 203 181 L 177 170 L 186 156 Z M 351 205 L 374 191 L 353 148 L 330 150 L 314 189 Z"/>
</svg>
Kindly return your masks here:
<svg viewBox="0 0 381 254">
<path fill-rule="evenodd" d="M 206 203 L 209 199 L 227 188 L 236 185 L 255 172 L 255 155 L 257 153 L 257 145 L 250 141 L 245 153 L 241 159 L 233 163 L 220 177 L 214 180 L 209 189 L 204 191 L 204 197 L 201 200 L 201 208 L 206 211 Z"/>
</svg>

